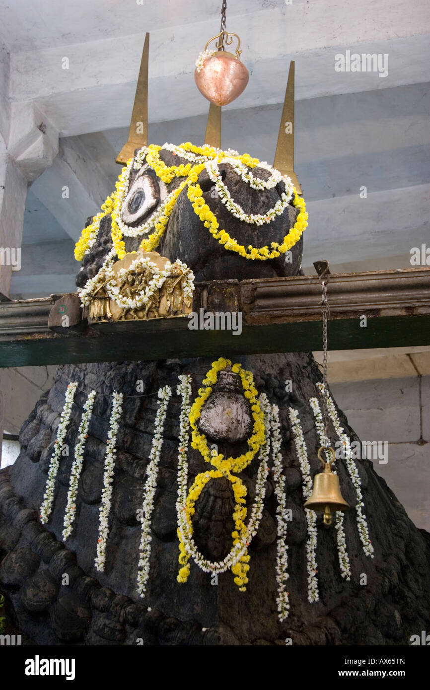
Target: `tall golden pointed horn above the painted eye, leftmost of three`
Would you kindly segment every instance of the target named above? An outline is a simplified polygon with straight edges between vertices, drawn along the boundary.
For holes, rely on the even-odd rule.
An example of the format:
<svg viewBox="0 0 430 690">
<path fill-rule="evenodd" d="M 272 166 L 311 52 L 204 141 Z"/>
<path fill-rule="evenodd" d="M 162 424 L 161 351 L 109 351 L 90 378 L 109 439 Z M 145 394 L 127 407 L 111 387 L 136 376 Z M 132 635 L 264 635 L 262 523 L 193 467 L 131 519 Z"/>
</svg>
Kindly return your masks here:
<svg viewBox="0 0 430 690">
<path fill-rule="evenodd" d="M 133 105 L 130 129 L 128 130 L 128 141 L 117 156 L 117 163 L 122 165 L 126 164 L 128 159 L 135 155 L 135 148 L 148 146 L 148 61 L 149 33 L 147 32 L 144 50 L 142 50 L 139 77 L 137 78 L 135 103 Z"/>
</svg>

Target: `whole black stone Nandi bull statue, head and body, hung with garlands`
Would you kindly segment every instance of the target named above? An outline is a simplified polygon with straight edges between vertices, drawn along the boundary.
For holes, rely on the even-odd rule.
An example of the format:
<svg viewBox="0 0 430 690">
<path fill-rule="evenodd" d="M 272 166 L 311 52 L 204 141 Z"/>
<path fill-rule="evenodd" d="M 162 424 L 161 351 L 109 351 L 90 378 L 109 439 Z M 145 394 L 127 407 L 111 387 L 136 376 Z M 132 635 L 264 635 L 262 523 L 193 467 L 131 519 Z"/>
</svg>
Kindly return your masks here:
<svg viewBox="0 0 430 690">
<path fill-rule="evenodd" d="M 197 282 L 297 275 L 305 227 L 270 166 L 144 146 L 84 230 L 77 285 L 139 247 Z M 429 535 L 351 458 L 331 399 L 350 509 L 329 529 L 304 509 L 324 433 L 310 353 L 126 357 L 124 338 L 124 362 L 60 366 L 0 473 L 0 586 L 27 640 L 409 644 L 428 629 Z"/>
</svg>

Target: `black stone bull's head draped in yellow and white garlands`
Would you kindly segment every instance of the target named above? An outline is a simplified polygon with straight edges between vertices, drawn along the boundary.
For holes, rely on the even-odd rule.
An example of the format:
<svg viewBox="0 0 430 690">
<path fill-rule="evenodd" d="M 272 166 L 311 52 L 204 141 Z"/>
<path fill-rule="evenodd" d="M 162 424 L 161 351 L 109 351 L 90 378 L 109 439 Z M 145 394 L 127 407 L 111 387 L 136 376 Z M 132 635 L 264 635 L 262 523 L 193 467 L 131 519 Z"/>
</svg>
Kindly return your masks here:
<svg viewBox="0 0 430 690">
<path fill-rule="evenodd" d="M 295 275 L 306 219 L 291 179 L 257 159 L 189 143 L 144 146 L 83 231 L 77 285 L 108 255 L 139 247 L 182 259 L 197 281 Z"/>
</svg>

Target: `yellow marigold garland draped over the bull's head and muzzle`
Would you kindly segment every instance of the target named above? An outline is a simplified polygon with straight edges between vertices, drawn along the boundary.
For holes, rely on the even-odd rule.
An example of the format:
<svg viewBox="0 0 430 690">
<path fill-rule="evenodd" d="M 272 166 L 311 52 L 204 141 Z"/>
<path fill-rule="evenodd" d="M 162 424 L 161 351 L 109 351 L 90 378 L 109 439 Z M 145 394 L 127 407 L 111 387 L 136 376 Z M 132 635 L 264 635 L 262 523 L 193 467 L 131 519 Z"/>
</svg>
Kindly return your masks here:
<svg viewBox="0 0 430 690">
<path fill-rule="evenodd" d="M 149 235 L 146 239 L 142 239 L 140 248 L 144 251 L 150 252 L 157 248 L 159 241 L 164 234 L 164 230 L 166 229 L 166 224 L 170 213 L 176 204 L 177 197 L 182 192 L 186 184 L 188 184 L 188 199 L 190 200 L 191 204 L 193 204 L 195 213 L 202 223 L 204 223 L 204 226 L 208 228 L 211 235 L 218 240 L 219 244 L 224 245 L 227 250 L 237 252 L 245 259 L 260 259 L 260 261 L 274 259 L 275 257 L 280 256 L 280 254 L 284 254 L 297 242 L 298 239 L 300 239 L 302 232 L 305 230 L 308 224 L 308 214 L 306 213 L 304 199 L 297 195 L 296 190 L 294 190 L 293 204 L 300 209 L 300 212 L 293 228 L 291 228 L 289 233 L 285 235 L 282 243 L 278 244 L 277 242 L 271 242 L 271 248 L 268 246 L 256 248 L 251 245 L 248 245 L 245 248 L 243 245 L 238 244 L 233 237 L 230 237 L 226 230 L 219 230 L 219 224 L 215 214 L 204 201 L 202 188 L 199 186 L 197 179 L 199 173 L 204 170 L 206 163 L 188 163 L 180 164 L 179 166 L 167 166 L 159 157 L 159 151 L 162 150 L 162 148 L 162 146 L 156 146 L 155 144 L 151 144 L 145 148 L 146 162 L 148 165 L 153 168 L 155 174 L 159 177 L 159 179 L 164 181 L 165 184 L 169 184 L 171 181 L 173 181 L 173 179 L 175 179 L 175 177 L 184 177 L 185 179 L 178 186 L 177 190 L 175 191 L 175 195 L 173 195 L 172 199 L 170 199 L 164 214 L 155 224 L 155 232 Z M 195 155 L 204 156 L 207 159 L 217 158 L 219 161 L 222 161 L 225 158 L 232 157 L 231 151 L 222 151 L 206 145 L 194 146 L 190 143 L 190 141 L 186 141 L 185 144 L 181 144 L 178 147 L 178 153 L 180 155 L 179 148 L 194 153 Z M 253 158 L 247 153 L 244 155 L 233 155 L 233 157 L 241 161 L 242 164 L 248 166 L 249 168 L 255 168 L 260 163 L 257 158 Z M 121 203 L 124 191 L 126 191 L 126 187 L 128 186 L 128 167 L 130 166 L 132 160 L 133 159 L 130 159 L 127 162 L 127 165 L 122 168 L 121 174 L 119 175 L 115 185 L 116 190 L 106 199 L 103 206 L 101 206 L 101 213 L 97 213 L 92 220 L 92 224 L 82 230 L 81 237 L 75 246 L 75 259 L 77 259 L 77 261 L 81 261 L 84 258 L 84 255 L 90 248 L 91 240 L 97 237 L 101 219 L 105 215 L 109 214 L 112 218 L 111 236 L 113 246 L 118 258 L 122 259 L 124 257 L 124 254 L 126 253 L 126 245 L 121 233 L 121 229 L 117 224 L 117 218 L 121 213 Z"/>
</svg>

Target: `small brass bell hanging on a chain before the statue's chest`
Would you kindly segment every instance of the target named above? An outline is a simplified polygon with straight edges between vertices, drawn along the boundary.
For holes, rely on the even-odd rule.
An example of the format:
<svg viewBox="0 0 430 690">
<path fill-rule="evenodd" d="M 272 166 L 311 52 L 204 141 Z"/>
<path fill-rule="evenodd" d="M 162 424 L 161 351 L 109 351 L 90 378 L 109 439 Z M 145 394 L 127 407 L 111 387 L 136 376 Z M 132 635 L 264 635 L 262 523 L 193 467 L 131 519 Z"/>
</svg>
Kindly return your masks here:
<svg viewBox="0 0 430 690">
<path fill-rule="evenodd" d="M 306 501 L 304 507 L 316 513 L 324 511 L 324 524 L 331 524 L 331 514 L 336 511 L 346 511 L 349 508 L 349 504 L 346 503 L 342 493 L 340 493 L 339 477 L 331 471 L 331 462 L 322 459 L 322 450 L 331 452 L 333 457 L 331 462 L 335 460 L 333 448 L 320 448 L 318 458 L 324 466 L 324 471 L 315 475 L 312 495 Z"/>
</svg>

